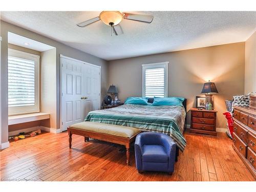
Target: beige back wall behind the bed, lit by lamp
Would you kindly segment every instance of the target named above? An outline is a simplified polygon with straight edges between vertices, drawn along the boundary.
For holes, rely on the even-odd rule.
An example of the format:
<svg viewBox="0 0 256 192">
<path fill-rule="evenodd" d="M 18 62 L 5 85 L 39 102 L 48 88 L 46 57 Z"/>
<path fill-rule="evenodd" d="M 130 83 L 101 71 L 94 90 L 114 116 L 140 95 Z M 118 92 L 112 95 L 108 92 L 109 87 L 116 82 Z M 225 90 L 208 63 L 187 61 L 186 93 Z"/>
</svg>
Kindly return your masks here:
<svg viewBox="0 0 256 192">
<path fill-rule="evenodd" d="M 168 96 L 187 98 L 187 110 L 195 106 L 203 83 L 216 83 L 219 94 L 214 96 L 218 111 L 217 127 L 226 127 L 222 113 L 225 99 L 244 93 L 245 43 L 227 44 L 199 49 L 169 52 L 109 61 L 109 84 L 114 83 L 121 100 L 142 95 L 142 64 L 169 61 Z M 187 124 L 190 124 L 188 113 Z"/>
</svg>

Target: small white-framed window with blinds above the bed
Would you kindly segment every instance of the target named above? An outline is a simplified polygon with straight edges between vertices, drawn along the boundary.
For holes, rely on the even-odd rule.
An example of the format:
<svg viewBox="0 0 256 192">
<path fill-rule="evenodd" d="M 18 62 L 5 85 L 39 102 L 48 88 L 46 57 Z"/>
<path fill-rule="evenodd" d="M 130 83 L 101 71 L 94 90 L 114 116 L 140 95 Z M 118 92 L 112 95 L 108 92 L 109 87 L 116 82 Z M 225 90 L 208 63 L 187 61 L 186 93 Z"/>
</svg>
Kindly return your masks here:
<svg viewBox="0 0 256 192">
<path fill-rule="evenodd" d="M 168 62 L 142 65 L 144 97 L 167 97 Z"/>
</svg>

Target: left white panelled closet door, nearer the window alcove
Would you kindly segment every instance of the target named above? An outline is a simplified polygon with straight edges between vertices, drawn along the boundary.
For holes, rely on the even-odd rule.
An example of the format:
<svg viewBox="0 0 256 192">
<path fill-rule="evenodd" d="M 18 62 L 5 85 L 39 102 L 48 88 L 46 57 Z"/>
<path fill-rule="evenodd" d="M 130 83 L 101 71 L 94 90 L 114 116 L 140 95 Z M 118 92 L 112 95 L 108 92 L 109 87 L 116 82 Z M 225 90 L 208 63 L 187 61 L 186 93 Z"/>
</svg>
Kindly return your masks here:
<svg viewBox="0 0 256 192">
<path fill-rule="evenodd" d="M 81 63 L 61 58 L 62 63 L 62 131 L 71 124 L 83 121 L 81 97 L 83 74 Z"/>
</svg>

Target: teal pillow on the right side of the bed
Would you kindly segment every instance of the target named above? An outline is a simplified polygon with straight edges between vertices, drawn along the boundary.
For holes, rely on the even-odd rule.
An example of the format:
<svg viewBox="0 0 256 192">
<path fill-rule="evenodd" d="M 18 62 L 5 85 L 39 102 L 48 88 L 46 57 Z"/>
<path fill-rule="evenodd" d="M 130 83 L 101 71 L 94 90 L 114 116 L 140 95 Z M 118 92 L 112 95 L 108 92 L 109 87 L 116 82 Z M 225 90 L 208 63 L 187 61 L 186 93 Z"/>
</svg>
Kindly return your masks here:
<svg viewBox="0 0 256 192">
<path fill-rule="evenodd" d="M 160 106 L 160 105 L 180 105 L 183 106 L 182 102 L 184 98 L 182 97 L 155 97 L 153 106 Z"/>
</svg>

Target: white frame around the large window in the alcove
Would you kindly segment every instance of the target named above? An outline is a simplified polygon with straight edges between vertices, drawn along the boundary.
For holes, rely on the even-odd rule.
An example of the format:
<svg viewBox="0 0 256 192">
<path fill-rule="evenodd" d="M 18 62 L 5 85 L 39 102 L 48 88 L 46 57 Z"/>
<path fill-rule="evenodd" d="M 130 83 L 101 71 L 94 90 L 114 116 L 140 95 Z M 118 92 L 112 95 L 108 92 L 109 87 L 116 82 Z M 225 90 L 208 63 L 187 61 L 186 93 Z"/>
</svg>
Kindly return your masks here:
<svg viewBox="0 0 256 192">
<path fill-rule="evenodd" d="M 21 115 L 21 114 L 29 114 L 29 113 L 38 113 L 40 112 L 39 108 L 39 99 L 40 99 L 40 82 L 39 82 L 39 70 L 40 70 L 40 56 L 34 55 L 31 53 L 18 51 L 14 49 L 8 49 L 8 57 L 17 57 L 22 59 L 28 59 L 35 61 L 35 105 L 30 106 L 8 106 L 8 115 Z M 9 81 L 8 81 L 9 86 Z M 8 93 L 9 99 L 9 93 Z"/>
</svg>

